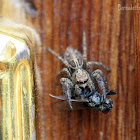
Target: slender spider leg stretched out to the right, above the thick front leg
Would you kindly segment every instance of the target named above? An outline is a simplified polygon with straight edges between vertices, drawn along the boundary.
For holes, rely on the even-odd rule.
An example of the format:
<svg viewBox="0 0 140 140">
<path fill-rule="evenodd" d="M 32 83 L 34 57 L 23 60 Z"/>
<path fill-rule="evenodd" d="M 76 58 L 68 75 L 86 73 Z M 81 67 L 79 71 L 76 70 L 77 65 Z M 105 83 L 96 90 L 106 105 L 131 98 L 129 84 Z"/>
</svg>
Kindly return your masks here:
<svg viewBox="0 0 140 140">
<path fill-rule="evenodd" d="M 87 62 L 87 66 L 98 66 L 98 67 L 102 67 L 103 69 L 105 69 L 106 71 L 110 72 L 111 69 L 108 68 L 107 66 L 105 66 L 103 63 L 101 62 L 94 62 L 94 61 L 90 61 Z"/>
</svg>

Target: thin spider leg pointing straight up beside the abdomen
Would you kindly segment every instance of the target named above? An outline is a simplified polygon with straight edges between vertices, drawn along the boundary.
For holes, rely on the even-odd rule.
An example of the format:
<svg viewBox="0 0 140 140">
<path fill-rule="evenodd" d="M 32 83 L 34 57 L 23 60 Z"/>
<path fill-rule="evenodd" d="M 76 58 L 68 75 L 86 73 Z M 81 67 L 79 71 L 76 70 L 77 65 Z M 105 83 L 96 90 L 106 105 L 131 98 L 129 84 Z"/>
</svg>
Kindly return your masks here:
<svg viewBox="0 0 140 140">
<path fill-rule="evenodd" d="M 86 43 L 86 32 L 83 30 L 83 61 L 87 62 L 87 43 Z"/>
</svg>

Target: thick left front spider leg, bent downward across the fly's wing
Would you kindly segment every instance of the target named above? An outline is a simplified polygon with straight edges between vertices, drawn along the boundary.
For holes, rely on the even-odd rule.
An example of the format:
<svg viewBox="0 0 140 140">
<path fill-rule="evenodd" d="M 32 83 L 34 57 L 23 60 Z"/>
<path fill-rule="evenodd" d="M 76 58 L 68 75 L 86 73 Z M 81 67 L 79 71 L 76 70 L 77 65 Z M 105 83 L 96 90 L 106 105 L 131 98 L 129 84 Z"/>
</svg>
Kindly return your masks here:
<svg viewBox="0 0 140 140">
<path fill-rule="evenodd" d="M 71 90 L 72 90 L 72 88 L 74 88 L 74 84 L 68 78 L 61 78 L 60 82 L 62 85 L 62 92 L 66 95 L 68 104 L 69 104 L 71 110 L 73 110 L 72 103 L 71 103 Z"/>
</svg>

